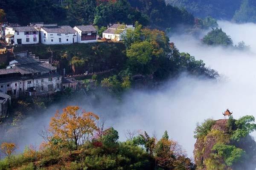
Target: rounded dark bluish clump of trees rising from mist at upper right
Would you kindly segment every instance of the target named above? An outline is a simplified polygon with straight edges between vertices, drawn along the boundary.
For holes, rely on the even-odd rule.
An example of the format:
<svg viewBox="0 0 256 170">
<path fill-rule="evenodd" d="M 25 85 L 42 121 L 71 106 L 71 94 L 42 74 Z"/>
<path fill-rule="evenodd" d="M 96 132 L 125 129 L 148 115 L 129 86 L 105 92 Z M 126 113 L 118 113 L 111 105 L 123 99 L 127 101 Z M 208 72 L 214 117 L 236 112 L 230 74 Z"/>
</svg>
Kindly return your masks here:
<svg viewBox="0 0 256 170">
<path fill-rule="evenodd" d="M 203 42 L 207 45 L 224 45 L 231 46 L 233 41 L 221 28 L 212 28 L 203 38 Z"/>
</svg>

